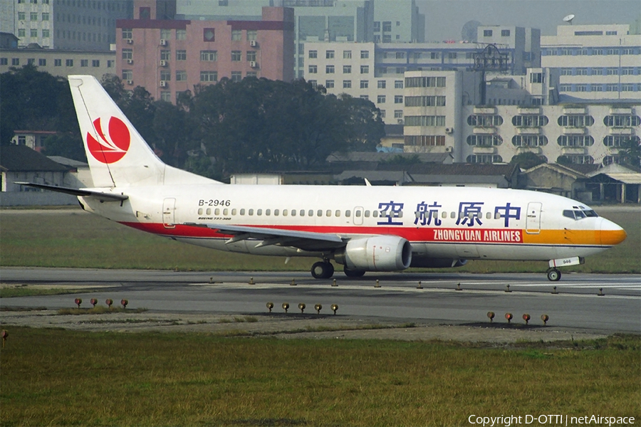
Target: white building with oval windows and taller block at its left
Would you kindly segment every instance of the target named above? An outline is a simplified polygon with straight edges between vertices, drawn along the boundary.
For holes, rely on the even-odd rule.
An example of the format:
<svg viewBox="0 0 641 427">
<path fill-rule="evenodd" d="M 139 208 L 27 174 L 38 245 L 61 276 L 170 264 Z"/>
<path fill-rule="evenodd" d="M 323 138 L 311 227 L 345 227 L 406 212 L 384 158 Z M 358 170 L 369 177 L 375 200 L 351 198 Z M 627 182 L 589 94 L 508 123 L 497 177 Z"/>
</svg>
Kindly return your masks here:
<svg viewBox="0 0 641 427">
<path fill-rule="evenodd" d="M 477 105 L 476 73 L 405 73 L 404 151 L 451 152 L 455 162 L 468 163 L 510 162 L 533 152 L 548 162 L 563 156 L 576 164 L 611 164 L 628 139 L 640 141 L 641 104 L 551 105 L 555 73 L 538 68 L 511 76 L 511 85 L 488 89 L 488 105 Z"/>
</svg>

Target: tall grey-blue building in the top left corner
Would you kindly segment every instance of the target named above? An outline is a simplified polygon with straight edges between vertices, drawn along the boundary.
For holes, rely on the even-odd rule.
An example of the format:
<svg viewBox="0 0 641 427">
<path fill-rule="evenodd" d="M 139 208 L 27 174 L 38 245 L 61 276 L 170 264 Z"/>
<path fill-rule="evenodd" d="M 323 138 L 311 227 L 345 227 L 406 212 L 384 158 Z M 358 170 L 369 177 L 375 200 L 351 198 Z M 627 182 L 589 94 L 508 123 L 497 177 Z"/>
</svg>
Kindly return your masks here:
<svg viewBox="0 0 641 427">
<path fill-rule="evenodd" d="M 18 47 L 108 51 L 117 19 L 131 19 L 133 0 L 2 0 L 0 31 Z"/>
</svg>

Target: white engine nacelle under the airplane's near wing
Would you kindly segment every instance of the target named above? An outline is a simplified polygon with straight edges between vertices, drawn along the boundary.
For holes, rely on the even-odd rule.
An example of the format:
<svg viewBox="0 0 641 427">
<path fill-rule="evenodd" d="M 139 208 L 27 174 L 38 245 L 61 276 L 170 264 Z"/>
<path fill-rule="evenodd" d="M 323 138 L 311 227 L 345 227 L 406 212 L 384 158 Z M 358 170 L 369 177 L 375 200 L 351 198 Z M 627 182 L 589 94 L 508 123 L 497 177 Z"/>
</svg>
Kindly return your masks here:
<svg viewBox="0 0 641 427">
<path fill-rule="evenodd" d="M 334 259 L 350 270 L 405 270 L 412 263 L 412 245 L 398 236 L 374 236 L 350 240 Z"/>
</svg>

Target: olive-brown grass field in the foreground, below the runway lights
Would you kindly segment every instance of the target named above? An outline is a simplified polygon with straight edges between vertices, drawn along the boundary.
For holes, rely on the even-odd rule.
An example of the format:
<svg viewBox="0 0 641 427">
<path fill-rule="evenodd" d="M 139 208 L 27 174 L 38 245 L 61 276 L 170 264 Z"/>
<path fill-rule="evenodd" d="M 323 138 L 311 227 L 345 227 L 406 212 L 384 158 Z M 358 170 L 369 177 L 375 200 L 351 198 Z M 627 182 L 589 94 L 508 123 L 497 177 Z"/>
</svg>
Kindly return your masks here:
<svg viewBox="0 0 641 427">
<path fill-rule="evenodd" d="M 13 328 L 2 426 L 467 426 L 641 418 L 640 337 L 490 348 Z"/>
</svg>

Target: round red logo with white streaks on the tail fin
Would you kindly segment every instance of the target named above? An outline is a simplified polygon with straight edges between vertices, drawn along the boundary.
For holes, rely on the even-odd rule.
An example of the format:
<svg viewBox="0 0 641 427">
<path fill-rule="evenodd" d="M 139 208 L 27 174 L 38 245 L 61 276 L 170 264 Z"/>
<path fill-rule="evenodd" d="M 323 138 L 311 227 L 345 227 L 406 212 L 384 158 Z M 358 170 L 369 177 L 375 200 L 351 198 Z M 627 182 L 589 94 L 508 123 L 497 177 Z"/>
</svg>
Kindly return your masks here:
<svg viewBox="0 0 641 427">
<path fill-rule="evenodd" d="M 90 132 L 87 132 L 87 148 L 94 159 L 101 163 L 115 163 L 127 154 L 131 142 L 131 135 L 123 120 L 118 117 L 109 119 L 109 137 L 105 136 L 100 117 L 93 121 L 93 128 L 98 133 L 99 139 L 95 139 Z"/>
</svg>

